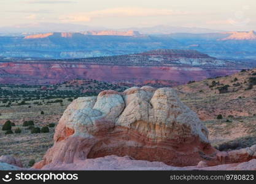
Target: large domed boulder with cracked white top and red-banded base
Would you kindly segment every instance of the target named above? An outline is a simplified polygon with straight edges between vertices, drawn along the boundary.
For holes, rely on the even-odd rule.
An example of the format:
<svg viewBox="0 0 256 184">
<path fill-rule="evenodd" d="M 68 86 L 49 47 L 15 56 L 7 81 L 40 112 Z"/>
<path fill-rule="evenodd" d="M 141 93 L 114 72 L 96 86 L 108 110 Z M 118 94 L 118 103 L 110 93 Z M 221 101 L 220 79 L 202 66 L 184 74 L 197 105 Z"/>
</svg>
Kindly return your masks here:
<svg viewBox="0 0 256 184">
<path fill-rule="evenodd" d="M 176 92 L 150 86 L 76 99 L 64 111 L 54 141 L 35 168 L 107 155 L 192 166 L 215 153 L 208 130 Z"/>
</svg>

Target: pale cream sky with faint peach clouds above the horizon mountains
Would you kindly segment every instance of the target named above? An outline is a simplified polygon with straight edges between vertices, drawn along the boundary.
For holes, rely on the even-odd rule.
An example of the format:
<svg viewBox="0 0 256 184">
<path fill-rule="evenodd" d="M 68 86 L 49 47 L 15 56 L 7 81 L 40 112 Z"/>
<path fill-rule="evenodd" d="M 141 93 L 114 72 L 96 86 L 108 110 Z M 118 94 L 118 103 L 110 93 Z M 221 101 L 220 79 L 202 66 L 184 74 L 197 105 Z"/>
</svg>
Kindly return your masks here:
<svg viewBox="0 0 256 184">
<path fill-rule="evenodd" d="M 255 0 L 1 0 L 0 6 L 0 27 L 46 22 L 249 31 L 256 30 L 255 18 Z"/>
</svg>

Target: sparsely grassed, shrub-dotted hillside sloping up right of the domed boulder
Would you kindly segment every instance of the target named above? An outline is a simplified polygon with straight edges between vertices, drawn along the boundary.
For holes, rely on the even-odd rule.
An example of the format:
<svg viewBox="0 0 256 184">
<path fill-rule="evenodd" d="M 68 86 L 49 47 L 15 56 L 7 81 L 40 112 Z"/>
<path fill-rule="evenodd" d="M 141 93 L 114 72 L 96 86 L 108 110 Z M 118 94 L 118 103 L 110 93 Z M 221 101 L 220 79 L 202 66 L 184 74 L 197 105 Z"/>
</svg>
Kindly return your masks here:
<svg viewBox="0 0 256 184">
<path fill-rule="evenodd" d="M 207 126 L 212 144 L 219 145 L 256 132 L 256 88 L 245 90 L 248 83 L 254 83 L 254 79 L 250 79 L 254 72 L 256 69 L 244 70 L 235 75 L 176 87 L 181 101 L 198 113 Z M 220 94 L 218 88 L 225 85 L 228 85 L 228 93 Z M 219 114 L 222 119 L 217 119 Z"/>
</svg>

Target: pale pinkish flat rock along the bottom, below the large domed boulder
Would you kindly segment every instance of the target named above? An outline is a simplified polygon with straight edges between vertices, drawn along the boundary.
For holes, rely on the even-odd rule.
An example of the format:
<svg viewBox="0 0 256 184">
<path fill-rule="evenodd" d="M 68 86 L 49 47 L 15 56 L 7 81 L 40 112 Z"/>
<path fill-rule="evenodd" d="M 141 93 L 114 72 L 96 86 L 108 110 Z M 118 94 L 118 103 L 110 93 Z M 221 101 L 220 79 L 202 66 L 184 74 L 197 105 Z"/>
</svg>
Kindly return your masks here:
<svg viewBox="0 0 256 184">
<path fill-rule="evenodd" d="M 0 165 L 1 169 L 1 165 Z M 147 171 L 189 171 L 189 170 L 256 170 L 256 159 L 252 159 L 246 163 L 238 164 L 220 164 L 218 166 L 208 166 L 204 161 L 201 161 L 198 166 L 174 167 L 168 166 L 157 161 L 136 160 L 130 156 L 104 156 L 101 158 L 85 159 L 83 161 L 74 161 L 74 163 L 55 163 L 48 164 L 43 167 L 45 170 L 147 170 Z"/>
</svg>

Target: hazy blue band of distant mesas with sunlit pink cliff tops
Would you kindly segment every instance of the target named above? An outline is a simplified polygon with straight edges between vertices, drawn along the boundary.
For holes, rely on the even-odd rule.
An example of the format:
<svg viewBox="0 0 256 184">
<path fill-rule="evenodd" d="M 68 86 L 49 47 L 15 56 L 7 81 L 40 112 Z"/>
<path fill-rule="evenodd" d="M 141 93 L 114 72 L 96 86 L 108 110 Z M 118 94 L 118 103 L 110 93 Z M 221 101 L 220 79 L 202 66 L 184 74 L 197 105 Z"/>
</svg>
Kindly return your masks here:
<svg viewBox="0 0 256 184">
<path fill-rule="evenodd" d="M 234 37 L 235 36 L 235 37 Z M 72 59 L 127 55 L 156 49 L 197 50 L 221 59 L 256 60 L 254 31 L 249 33 L 173 33 L 83 31 L 0 36 L 2 58 Z"/>
</svg>

